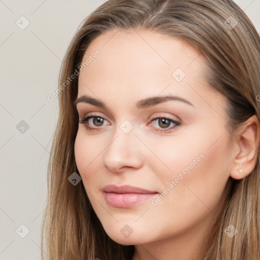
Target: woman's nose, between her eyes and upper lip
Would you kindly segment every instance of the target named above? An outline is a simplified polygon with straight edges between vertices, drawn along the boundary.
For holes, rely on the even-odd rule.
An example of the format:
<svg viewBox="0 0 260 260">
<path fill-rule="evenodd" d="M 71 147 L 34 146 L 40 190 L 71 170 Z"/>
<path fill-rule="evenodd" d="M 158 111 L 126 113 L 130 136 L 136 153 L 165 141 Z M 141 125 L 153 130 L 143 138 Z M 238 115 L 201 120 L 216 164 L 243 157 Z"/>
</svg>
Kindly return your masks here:
<svg viewBox="0 0 260 260">
<path fill-rule="evenodd" d="M 111 172 L 119 173 L 126 169 L 137 170 L 143 165 L 138 138 L 134 131 L 125 134 L 118 129 L 104 151 L 104 165 Z"/>
</svg>

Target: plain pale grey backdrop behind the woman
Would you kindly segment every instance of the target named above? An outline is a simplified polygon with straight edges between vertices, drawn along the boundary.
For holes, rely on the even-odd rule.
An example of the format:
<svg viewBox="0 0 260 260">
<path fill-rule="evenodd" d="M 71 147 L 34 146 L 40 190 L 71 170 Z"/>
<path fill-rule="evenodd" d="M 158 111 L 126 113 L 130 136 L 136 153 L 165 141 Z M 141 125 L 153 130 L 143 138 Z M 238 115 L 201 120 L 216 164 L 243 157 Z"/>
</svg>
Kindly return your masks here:
<svg viewBox="0 0 260 260">
<path fill-rule="evenodd" d="M 260 0 L 235 1 L 260 31 Z M 40 260 L 61 61 L 104 0 L 0 0 L 0 259 Z M 27 27 L 26 27 L 27 26 Z M 26 28 L 24 28 L 26 27 Z"/>
</svg>

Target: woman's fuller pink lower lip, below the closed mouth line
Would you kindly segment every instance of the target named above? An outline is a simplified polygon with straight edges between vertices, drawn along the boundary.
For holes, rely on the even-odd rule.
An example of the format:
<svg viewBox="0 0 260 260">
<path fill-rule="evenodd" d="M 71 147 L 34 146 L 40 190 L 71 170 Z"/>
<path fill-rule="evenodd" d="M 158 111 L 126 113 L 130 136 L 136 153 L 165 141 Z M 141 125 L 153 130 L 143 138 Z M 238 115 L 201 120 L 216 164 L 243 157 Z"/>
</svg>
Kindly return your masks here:
<svg viewBox="0 0 260 260">
<path fill-rule="evenodd" d="M 143 201 L 153 198 L 158 193 L 113 193 L 104 192 L 105 200 L 108 205 L 116 208 L 128 208 Z"/>
</svg>

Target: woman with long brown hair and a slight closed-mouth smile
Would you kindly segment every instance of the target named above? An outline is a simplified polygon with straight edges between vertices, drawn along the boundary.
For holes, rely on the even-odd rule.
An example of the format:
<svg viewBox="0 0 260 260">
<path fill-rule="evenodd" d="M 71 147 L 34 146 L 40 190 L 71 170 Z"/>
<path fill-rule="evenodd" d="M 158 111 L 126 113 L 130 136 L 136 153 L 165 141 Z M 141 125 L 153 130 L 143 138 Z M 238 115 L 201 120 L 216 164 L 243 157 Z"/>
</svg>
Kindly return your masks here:
<svg viewBox="0 0 260 260">
<path fill-rule="evenodd" d="M 109 0 L 62 63 L 42 258 L 260 257 L 260 39 L 230 0 Z"/>
</svg>

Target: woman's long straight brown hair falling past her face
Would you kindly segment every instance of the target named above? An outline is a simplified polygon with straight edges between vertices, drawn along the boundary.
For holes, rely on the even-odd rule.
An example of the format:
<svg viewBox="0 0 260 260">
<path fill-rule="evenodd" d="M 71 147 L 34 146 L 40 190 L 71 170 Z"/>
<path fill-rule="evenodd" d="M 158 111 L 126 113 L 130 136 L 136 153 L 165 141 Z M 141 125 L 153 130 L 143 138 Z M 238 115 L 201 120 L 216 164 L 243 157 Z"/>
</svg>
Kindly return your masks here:
<svg viewBox="0 0 260 260">
<path fill-rule="evenodd" d="M 59 77 L 59 118 L 48 166 L 48 200 L 42 224 L 42 259 L 132 259 L 134 246 L 120 245 L 105 233 L 82 181 L 68 181 L 78 172 L 74 142 L 78 113 L 79 64 L 93 39 L 109 29 L 149 29 L 179 37 L 207 60 L 205 77 L 228 100 L 226 129 L 233 136 L 250 116 L 260 121 L 260 39 L 252 22 L 231 0 L 109 0 L 77 30 Z M 101 53 L 102 55 L 102 53 Z M 63 85 L 63 87 L 61 87 Z M 258 99 L 257 99 L 258 96 Z M 230 178 L 226 204 L 212 228 L 203 260 L 259 260 L 260 156 L 245 178 Z M 238 236 L 224 229 L 233 224 Z M 46 248 L 45 248 L 46 246 Z M 48 257 L 47 257 L 48 256 Z"/>
</svg>

